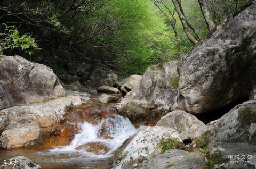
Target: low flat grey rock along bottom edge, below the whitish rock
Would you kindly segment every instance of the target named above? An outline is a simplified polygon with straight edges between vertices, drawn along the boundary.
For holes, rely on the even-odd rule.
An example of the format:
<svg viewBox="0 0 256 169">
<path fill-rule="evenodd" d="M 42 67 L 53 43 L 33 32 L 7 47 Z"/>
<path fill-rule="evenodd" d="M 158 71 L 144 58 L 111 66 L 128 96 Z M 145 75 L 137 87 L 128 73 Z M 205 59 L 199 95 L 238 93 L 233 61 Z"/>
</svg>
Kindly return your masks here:
<svg viewBox="0 0 256 169">
<path fill-rule="evenodd" d="M 143 169 L 155 169 L 155 168 L 190 168 L 199 169 L 204 166 L 204 158 L 196 153 L 188 153 L 180 149 L 170 149 L 163 154 L 159 154 L 151 158 Z"/>
</svg>

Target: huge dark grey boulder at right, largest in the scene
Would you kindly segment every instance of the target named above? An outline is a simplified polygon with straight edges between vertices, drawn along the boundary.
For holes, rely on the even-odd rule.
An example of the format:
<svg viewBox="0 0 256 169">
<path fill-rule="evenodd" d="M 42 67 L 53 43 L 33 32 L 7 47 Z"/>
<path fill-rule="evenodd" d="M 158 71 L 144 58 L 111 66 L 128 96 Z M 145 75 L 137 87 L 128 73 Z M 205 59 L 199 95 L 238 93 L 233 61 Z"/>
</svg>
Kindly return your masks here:
<svg viewBox="0 0 256 169">
<path fill-rule="evenodd" d="M 179 61 L 180 109 L 202 113 L 249 97 L 256 82 L 256 1 Z"/>
</svg>

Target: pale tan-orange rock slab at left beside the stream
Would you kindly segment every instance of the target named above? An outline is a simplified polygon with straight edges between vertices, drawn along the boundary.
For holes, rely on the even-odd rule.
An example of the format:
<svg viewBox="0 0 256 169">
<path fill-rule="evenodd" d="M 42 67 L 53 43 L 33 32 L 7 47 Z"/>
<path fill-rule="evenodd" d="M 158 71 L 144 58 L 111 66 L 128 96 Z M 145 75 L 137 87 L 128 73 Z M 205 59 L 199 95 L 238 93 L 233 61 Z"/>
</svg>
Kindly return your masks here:
<svg viewBox="0 0 256 169">
<path fill-rule="evenodd" d="M 41 133 L 50 132 L 65 119 L 67 106 L 81 104 L 79 96 L 67 96 L 45 103 L 3 109 L 0 111 L 0 147 L 8 149 L 35 145 Z"/>
</svg>

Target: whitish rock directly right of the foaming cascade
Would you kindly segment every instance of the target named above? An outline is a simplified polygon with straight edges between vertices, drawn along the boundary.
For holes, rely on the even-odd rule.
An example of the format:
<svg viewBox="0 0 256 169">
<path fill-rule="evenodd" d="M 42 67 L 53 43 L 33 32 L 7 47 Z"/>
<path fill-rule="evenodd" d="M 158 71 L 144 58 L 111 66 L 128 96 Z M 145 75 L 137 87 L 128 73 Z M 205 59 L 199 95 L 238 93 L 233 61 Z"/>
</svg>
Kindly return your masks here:
<svg viewBox="0 0 256 169">
<path fill-rule="evenodd" d="M 127 139 L 116 151 L 113 168 L 127 168 L 127 164 L 133 166 L 160 154 L 159 140 L 162 138 L 181 141 L 179 134 L 174 129 L 159 126 L 146 127 Z"/>
</svg>

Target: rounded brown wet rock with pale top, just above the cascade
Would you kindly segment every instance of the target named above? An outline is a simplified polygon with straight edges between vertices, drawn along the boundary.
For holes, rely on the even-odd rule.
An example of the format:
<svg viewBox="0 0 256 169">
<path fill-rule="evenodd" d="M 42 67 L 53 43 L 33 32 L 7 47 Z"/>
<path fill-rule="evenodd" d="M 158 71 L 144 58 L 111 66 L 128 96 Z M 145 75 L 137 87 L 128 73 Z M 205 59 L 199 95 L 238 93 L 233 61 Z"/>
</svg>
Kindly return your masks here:
<svg viewBox="0 0 256 169">
<path fill-rule="evenodd" d="M 119 114 L 131 121 L 140 120 L 149 116 L 150 103 L 144 100 L 124 98 L 118 105 Z"/>
</svg>

